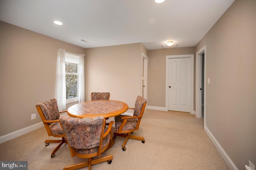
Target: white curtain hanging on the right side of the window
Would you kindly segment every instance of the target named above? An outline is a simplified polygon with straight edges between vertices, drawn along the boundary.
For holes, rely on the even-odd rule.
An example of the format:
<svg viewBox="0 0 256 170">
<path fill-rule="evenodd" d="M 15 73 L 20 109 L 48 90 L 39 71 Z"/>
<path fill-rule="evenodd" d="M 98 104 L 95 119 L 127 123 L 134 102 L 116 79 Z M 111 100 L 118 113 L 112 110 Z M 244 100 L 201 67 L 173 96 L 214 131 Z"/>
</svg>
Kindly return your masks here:
<svg viewBox="0 0 256 170">
<path fill-rule="evenodd" d="M 84 102 L 84 54 L 79 54 L 78 103 Z"/>
</svg>

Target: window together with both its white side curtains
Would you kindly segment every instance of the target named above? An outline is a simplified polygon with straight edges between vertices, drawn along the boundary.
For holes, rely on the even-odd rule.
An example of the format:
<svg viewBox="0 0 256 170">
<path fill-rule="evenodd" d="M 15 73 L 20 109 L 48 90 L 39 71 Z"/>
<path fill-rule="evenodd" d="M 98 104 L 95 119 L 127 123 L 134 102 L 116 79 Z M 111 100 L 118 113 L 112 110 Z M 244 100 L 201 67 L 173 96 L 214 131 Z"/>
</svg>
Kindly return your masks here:
<svg viewBox="0 0 256 170">
<path fill-rule="evenodd" d="M 55 98 L 60 111 L 66 110 L 66 103 L 84 101 L 84 54 L 58 49 Z"/>
</svg>

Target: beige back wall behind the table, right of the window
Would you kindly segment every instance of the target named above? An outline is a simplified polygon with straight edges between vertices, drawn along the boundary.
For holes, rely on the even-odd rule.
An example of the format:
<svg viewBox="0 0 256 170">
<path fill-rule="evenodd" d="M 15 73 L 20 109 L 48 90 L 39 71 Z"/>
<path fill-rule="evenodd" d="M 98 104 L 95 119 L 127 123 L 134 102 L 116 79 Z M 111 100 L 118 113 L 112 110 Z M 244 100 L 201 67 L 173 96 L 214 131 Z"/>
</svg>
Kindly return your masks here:
<svg viewBox="0 0 256 170">
<path fill-rule="evenodd" d="M 86 101 L 91 92 L 110 92 L 110 100 L 134 107 L 141 94 L 142 51 L 141 43 L 87 48 Z"/>
</svg>

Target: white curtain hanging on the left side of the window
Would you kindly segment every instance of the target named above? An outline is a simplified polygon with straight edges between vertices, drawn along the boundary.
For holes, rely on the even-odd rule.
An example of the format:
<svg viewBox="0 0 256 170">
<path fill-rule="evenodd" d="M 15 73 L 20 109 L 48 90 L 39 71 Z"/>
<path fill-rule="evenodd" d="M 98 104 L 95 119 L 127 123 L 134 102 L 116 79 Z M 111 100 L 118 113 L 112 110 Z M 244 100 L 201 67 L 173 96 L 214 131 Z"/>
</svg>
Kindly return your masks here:
<svg viewBox="0 0 256 170">
<path fill-rule="evenodd" d="M 58 49 L 56 64 L 55 98 L 59 111 L 66 110 L 65 49 Z"/>
</svg>

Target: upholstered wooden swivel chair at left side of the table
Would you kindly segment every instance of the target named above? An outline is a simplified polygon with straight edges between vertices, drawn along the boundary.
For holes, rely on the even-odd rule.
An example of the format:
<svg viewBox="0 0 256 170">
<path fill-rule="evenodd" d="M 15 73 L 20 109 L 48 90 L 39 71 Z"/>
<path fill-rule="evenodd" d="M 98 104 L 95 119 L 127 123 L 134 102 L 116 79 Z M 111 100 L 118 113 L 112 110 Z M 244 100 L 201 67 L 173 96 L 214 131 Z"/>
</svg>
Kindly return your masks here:
<svg viewBox="0 0 256 170">
<path fill-rule="evenodd" d="M 49 101 L 44 101 L 42 103 L 36 104 L 36 109 L 44 123 L 44 127 L 48 133 L 48 136 L 53 136 L 56 138 L 62 138 L 61 140 L 45 140 L 45 146 L 49 143 L 59 143 L 56 148 L 52 151 L 51 157 L 55 157 L 55 152 L 60 148 L 63 143 L 66 143 L 65 134 L 60 126 L 60 113 L 66 111 L 60 111 L 58 109 L 58 104 L 56 99 L 50 99 Z"/>
</svg>

